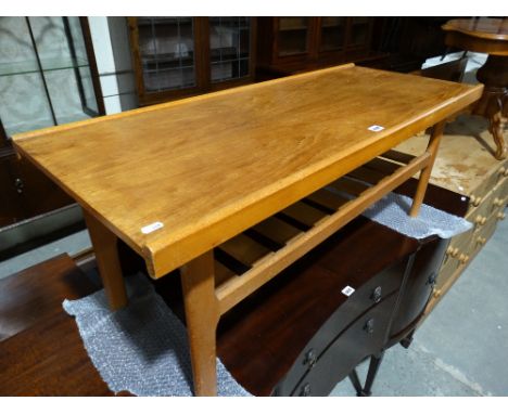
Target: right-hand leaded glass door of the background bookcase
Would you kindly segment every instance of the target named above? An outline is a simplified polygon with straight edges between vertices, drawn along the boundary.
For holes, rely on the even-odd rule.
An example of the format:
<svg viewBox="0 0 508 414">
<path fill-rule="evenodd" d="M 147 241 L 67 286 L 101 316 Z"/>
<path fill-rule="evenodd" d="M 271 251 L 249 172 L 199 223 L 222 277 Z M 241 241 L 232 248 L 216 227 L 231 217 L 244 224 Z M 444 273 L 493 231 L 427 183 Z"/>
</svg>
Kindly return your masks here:
<svg viewBox="0 0 508 414">
<path fill-rule="evenodd" d="M 209 17 L 212 83 L 250 75 L 251 17 Z"/>
</svg>

